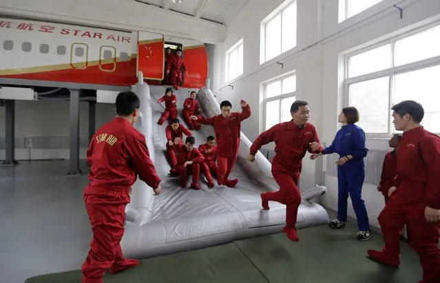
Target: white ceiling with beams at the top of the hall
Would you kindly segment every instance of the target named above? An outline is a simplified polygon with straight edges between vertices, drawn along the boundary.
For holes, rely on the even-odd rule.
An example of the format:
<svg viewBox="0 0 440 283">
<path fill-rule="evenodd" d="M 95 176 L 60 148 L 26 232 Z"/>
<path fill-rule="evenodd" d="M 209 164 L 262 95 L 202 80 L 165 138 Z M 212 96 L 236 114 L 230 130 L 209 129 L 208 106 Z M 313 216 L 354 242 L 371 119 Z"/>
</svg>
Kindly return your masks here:
<svg viewBox="0 0 440 283">
<path fill-rule="evenodd" d="M 228 25 L 249 0 L 135 0 L 145 5 L 154 5 L 170 12 L 180 12 L 203 19 Z"/>
</svg>

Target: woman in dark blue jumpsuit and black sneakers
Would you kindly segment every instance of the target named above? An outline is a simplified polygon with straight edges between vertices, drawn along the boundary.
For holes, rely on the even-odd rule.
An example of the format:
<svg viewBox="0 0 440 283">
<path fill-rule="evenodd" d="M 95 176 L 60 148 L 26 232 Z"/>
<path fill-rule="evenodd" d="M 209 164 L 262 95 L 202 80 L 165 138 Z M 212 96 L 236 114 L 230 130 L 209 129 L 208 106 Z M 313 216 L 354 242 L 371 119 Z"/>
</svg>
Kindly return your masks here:
<svg viewBox="0 0 440 283">
<path fill-rule="evenodd" d="M 335 229 L 344 228 L 347 221 L 347 200 L 350 195 L 355 210 L 357 225 L 357 240 L 369 240 L 372 236 L 368 214 L 362 199 L 362 185 L 365 179 L 365 163 L 368 149 L 365 145 L 365 132 L 355 123 L 359 121 L 359 112 L 355 107 L 346 107 L 338 116 L 338 122 L 344 124 L 337 131 L 331 146 L 321 153 L 311 156 L 315 159 L 319 155 L 331 153 L 339 154 L 337 163 L 337 219 L 330 222 Z"/>
</svg>

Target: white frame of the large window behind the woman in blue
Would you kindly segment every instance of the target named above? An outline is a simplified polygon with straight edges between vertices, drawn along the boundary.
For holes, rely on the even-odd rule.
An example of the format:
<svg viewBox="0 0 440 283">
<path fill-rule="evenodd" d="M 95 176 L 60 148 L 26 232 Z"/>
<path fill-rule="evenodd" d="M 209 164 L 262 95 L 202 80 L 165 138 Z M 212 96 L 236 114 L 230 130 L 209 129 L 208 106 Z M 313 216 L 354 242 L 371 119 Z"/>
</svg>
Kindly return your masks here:
<svg viewBox="0 0 440 283">
<path fill-rule="evenodd" d="M 402 74 L 402 73 L 408 73 L 411 71 L 417 71 L 421 69 L 426 69 L 429 67 L 439 66 L 440 65 L 440 55 L 434 56 L 431 58 L 418 60 L 412 63 L 406 63 L 404 65 L 399 65 L 395 67 L 395 43 L 397 41 L 400 41 L 404 38 L 408 38 L 410 36 L 414 36 L 416 34 L 419 34 L 421 32 L 425 32 L 427 30 L 430 30 L 434 27 L 440 27 L 440 21 L 435 21 L 434 23 L 430 23 L 428 25 L 423 25 L 422 27 L 419 27 L 414 30 L 410 30 L 408 32 L 404 32 L 402 34 L 399 34 L 397 36 L 393 36 L 391 38 L 388 38 L 384 41 L 380 41 L 378 43 L 375 43 L 373 45 L 369 45 L 368 47 L 364 47 L 361 49 L 357 49 L 353 52 L 347 53 L 344 55 L 344 96 L 343 96 L 343 102 L 344 106 L 349 106 L 350 101 L 350 93 L 349 93 L 349 87 L 350 84 L 355 84 L 357 82 L 366 82 L 368 80 L 374 80 L 377 78 L 383 78 L 388 76 L 389 77 L 389 86 L 388 86 L 388 133 L 371 133 L 366 132 L 367 138 L 389 138 L 392 137 L 392 135 L 395 133 L 394 127 L 392 126 L 392 111 L 391 107 L 395 100 L 395 76 Z M 361 76 L 355 76 L 352 78 L 348 78 L 348 68 L 350 64 L 350 58 L 353 56 L 356 56 L 358 54 L 362 54 L 364 52 L 368 52 L 371 49 L 375 49 L 377 47 L 381 47 L 384 45 L 391 45 L 391 64 L 390 68 L 380 70 L 380 71 L 374 71 L 373 73 L 366 73 Z M 423 121 L 422 121 L 423 124 Z M 439 134 L 439 133 L 437 133 Z"/>
</svg>

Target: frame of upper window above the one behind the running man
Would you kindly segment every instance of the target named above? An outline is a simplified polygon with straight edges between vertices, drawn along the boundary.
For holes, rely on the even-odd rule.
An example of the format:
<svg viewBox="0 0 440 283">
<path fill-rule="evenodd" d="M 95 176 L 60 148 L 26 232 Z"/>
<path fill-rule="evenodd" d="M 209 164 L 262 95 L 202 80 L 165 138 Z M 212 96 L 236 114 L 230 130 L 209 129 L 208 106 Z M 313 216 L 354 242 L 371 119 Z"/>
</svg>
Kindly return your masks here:
<svg viewBox="0 0 440 283">
<path fill-rule="evenodd" d="M 296 30 L 295 30 L 295 45 L 293 47 L 291 47 L 290 49 L 287 49 L 284 52 L 282 51 L 282 43 L 283 43 L 283 33 L 282 33 L 283 32 L 283 21 L 282 20 L 283 20 L 283 14 L 284 14 L 284 11 L 287 10 L 288 8 L 290 8 L 291 5 L 293 5 L 294 3 L 296 3 L 296 5 L 298 5 L 297 4 L 297 0 L 290 0 L 290 1 L 287 0 L 286 3 L 283 3 L 283 4 L 280 5 L 280 7 L 282 7 L 281 9 L 280 9 L 280 7 L 278 7 L 277 9 L 274 10 L 274 12 L 275 12 L 275 11 L 280 9 L 279 11 L 275 12 L 274 14 L 270 14 L 266 19 L 264 19 L 261 22 L 260 36 L 262 38 L 264 38 L 264 40 L 263 40 L 263 42 L 260 42 L 260 46 L 261 46 L 260 47 L 260 54 L 261 54 L 261 56 L 260 56 L 260 65 L 263 64 L 263 63 L 266 63 L 267 61 L 273 60 L 274 58 L 277 58 L 281 54 L 284 54 L 284 53 L 288 52 L 289 50 L 297 47 L 298 27 L 296 26 Z M 280 15 L 280 24 L 281 24 L 281 27 L 280 27 L 280 32 L 281 32 L 280 53 L 277 54 L 276 56 L 274 56 L 273 58 L 268 59 L 267 58 L 267 25 L 269 23 L 271 23 L 271 21 L 273 21 L 278 15 Z M 297 23 L 297 19 L 298 19 L 298 10 L 297 10 L 297 12 L 295 14 L 295 21 L 296 21 L 296 23 Z"/>
</svg>

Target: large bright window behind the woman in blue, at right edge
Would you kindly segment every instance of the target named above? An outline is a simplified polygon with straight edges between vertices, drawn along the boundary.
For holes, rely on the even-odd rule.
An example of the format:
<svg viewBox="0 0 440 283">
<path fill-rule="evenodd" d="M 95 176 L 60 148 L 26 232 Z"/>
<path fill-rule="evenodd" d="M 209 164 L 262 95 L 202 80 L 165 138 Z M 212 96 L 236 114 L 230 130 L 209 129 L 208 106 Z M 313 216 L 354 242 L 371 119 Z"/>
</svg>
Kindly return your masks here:
<svg viewBox="0 0 440 283">
<path fill-rule="evenodd" d="M 366 133 L 393 133 L 391 106 L 403 100 L 421 103 L 421 124 L 440 133 L 439 38 L 437 25 L 347 56 L 347 102 L 359 109 Z"/>
</svg>

